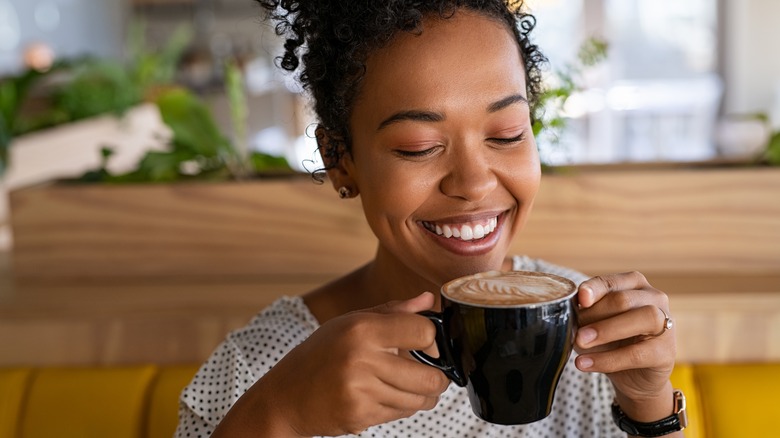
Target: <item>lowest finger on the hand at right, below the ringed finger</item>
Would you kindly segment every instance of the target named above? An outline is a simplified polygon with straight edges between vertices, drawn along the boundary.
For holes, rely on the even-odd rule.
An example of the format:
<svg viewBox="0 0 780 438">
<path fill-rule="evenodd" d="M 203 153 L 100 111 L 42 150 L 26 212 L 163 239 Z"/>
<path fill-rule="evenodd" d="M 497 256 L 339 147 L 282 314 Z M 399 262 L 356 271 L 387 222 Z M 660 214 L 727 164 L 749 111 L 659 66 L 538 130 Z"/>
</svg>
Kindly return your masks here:
<svg viewBox="0 0 780 438">
<path fill-rule="evenodd" d="M 642 368 L 671 369 L 675 352 L 669 351 L 670 348 L 674 350 L 674 344 L 652 338 L 613 350 L 582 354 L 575 363 L 582 371 L 605 374 Z"/>
</svg>

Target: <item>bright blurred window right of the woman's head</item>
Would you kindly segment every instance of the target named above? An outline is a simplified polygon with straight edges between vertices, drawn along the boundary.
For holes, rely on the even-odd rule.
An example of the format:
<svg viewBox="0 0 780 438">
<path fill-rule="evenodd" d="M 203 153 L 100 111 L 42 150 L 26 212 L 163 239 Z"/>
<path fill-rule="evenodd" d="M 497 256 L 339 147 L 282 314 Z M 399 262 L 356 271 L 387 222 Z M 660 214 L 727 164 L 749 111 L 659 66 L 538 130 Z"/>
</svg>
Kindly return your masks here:
<svg viewBox="0 0 780 438">
<path fill-rule="evenodd" d="M 716 148 L 723 96 L 716 0 L 535 0 L 536 42 L 551 74 L 589 37 L 607 59 L 582 70 L 564 105 L 567 128 L 540 136 L 549 164 L 698 161 Z M 551 78 L 553 80 L 554 78 Z"/>
</svg>

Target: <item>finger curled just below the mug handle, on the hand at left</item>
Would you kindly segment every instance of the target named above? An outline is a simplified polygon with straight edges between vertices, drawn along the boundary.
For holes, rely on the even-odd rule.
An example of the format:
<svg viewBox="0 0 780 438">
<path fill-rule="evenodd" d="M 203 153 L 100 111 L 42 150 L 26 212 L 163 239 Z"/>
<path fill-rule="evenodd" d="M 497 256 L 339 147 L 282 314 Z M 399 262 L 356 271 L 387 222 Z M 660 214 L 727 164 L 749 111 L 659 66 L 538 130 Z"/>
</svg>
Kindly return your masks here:
<svg viewBox="0 0 780 438">
<path fill-rule="evenodd" d="M 438 397 L 450 385 L 443 372 L 414 359 L 392 356 L 376 371 L 376 376 L 388 386 L 410 394 Z"/>
</svg>

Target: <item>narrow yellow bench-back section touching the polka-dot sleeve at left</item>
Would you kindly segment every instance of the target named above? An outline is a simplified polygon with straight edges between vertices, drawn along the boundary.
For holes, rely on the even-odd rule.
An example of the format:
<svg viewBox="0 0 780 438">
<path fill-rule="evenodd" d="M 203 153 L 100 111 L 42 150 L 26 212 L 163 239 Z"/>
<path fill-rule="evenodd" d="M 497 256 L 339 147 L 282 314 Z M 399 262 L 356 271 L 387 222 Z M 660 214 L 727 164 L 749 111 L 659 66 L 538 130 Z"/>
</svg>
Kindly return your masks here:
<svg viewBox="0 0 780 438">
<path fill-rule="evenodd" d="M 148 438 L 171 438 L 179 420 L 179 394 L 198 371 L 197 366 L 169 366 L 160 369 L 149 401 Z"/>
</svg>

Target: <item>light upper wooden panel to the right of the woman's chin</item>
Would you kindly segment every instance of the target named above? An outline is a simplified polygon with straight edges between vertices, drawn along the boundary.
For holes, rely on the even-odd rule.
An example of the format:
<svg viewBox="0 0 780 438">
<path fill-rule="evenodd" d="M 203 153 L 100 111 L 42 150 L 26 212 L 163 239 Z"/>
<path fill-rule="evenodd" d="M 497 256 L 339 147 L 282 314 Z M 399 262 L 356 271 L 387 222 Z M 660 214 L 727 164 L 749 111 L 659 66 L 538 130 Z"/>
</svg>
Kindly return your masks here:
<svg viewBox="0 0 780 438">
<path fill-rule="evenodd" d="M 780 169 L 544 177 L 513 249 L 589 273 L 780 272 Z"/>
</svg>

